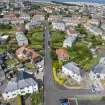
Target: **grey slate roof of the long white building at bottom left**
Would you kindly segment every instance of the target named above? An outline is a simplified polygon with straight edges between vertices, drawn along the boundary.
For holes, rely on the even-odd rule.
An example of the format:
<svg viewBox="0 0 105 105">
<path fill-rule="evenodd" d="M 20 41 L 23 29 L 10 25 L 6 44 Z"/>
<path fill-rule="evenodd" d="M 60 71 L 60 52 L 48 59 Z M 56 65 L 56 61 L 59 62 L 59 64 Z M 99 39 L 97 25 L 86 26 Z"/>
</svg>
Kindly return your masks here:
<svg viewBox="0 0 105 105">
<path fill-rule="evenodd" d="M 12 92 L 18 89 L 36 85 L 36 81 L 32 78 L 32 75 L 26 71 L 19 71 L 17 78 L 13 81 L 10 81 L 4 90 L 4 92 Z"/>
</svg>

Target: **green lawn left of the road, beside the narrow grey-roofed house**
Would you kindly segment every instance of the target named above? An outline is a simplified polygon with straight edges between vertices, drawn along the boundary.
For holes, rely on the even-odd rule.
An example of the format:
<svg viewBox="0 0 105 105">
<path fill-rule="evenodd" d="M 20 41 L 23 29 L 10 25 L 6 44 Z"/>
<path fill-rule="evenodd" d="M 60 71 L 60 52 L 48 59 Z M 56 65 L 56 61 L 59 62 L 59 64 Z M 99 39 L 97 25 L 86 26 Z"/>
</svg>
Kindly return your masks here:
<svg viewBox="0 0 105 105">
<path fill-rule="evenodd" d="M 44 51 L 44 37 L 43 37 L 43 28 L 37 27 L 28 32 L 27 38 L 29 40 L 29 47 L 35 49 L 39 53 L 43 54 Z"/>
</svg>

